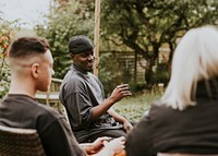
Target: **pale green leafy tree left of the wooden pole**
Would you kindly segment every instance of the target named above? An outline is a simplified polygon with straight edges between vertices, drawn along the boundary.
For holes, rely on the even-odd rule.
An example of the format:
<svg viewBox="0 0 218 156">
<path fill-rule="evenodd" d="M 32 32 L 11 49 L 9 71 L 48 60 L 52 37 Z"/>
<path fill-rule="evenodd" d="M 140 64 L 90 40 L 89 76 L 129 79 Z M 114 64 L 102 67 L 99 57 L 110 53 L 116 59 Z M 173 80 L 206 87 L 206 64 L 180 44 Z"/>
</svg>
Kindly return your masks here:
<svg viewBox="0 0 218 156">
<path fill-rule="evenodd" d="M 35 27 L 39 36 L 49 40 L 55 58 L 55 76 L 62 79 L 70 67 L 68 43 L 74 35 L 93 37 L 94 3 L 69 0 L 62 3 L 53 1 L 48 22 Z"/>
</svg>

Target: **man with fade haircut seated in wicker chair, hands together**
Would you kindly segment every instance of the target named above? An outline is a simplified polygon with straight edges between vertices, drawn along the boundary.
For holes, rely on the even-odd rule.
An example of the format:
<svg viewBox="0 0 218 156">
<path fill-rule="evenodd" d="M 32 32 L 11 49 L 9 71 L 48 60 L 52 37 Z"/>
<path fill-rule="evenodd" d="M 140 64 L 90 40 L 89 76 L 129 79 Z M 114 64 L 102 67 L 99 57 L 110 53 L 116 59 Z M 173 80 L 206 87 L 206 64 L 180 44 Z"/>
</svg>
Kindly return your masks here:
<svg viewBox="0 0 218 156">
<path fill-rule="evenodd" d="M 108 137 L 100 137 L 94 143 L 80 145 L 65 118 L 35 100 L 36 91 L 46 92 L 55 73 L 53 59 L 45 39 L 22 37 L 14 40 L 8 59 L 11 85 L 0 104 L 0 124 L 36 129 L 49 156 L 85 156 L 104 146 L 96 156 L 112 156 L 123 149 L 124 137 L 109 143 L 105 142 Z"/>
</svg>

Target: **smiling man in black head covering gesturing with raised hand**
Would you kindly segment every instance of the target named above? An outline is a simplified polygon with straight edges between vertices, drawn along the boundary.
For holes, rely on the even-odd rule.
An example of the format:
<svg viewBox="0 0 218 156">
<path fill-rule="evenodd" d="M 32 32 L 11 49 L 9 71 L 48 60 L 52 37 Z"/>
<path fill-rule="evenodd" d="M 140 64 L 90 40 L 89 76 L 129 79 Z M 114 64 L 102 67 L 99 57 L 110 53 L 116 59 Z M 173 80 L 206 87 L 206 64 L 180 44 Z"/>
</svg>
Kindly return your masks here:
<svg viewBox="0 0 218 156">
<path fill-rule="evenodd" d="M 106 99 L 101 82 L 92 73 L 95 61 L 93 49 L 86 36 L 70 39 L 69 52 L 73 63 L 59 95 L 78 143 L 93 142 L 99 136 L 125 136 L 133 128 L 111 108 L 123 97 L 132 95 L 129 85 L 118 85 Z"/>
</svg>

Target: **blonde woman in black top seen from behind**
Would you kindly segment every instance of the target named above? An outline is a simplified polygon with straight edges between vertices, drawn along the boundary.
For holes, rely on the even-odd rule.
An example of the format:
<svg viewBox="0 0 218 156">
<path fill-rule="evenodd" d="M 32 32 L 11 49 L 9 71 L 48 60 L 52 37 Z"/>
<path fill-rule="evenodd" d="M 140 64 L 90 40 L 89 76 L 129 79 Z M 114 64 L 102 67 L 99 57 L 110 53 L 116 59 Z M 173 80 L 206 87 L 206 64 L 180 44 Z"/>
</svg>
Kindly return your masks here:
<svg viewBox="0 0 218 156">
<path fill-rule="evenodd" d="M 218 154 L 218 29 L 190 29 L 175 48 L 169 85 L 126 139 L 128 156 Z"/>
</svg>

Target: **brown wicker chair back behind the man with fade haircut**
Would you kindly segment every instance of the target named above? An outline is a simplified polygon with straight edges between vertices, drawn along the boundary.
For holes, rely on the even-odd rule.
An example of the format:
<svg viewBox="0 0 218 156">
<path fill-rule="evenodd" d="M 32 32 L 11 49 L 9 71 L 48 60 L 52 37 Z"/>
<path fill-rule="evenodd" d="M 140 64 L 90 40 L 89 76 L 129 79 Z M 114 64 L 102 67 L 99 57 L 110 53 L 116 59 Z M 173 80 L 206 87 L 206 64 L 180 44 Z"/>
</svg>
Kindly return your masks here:
<svg viewBox="0 0 218 156">
<path fill-rule="evenodd" d="M 0 125 L 0 156 L 46 156 L 36 130 Z"/>
</svg>

